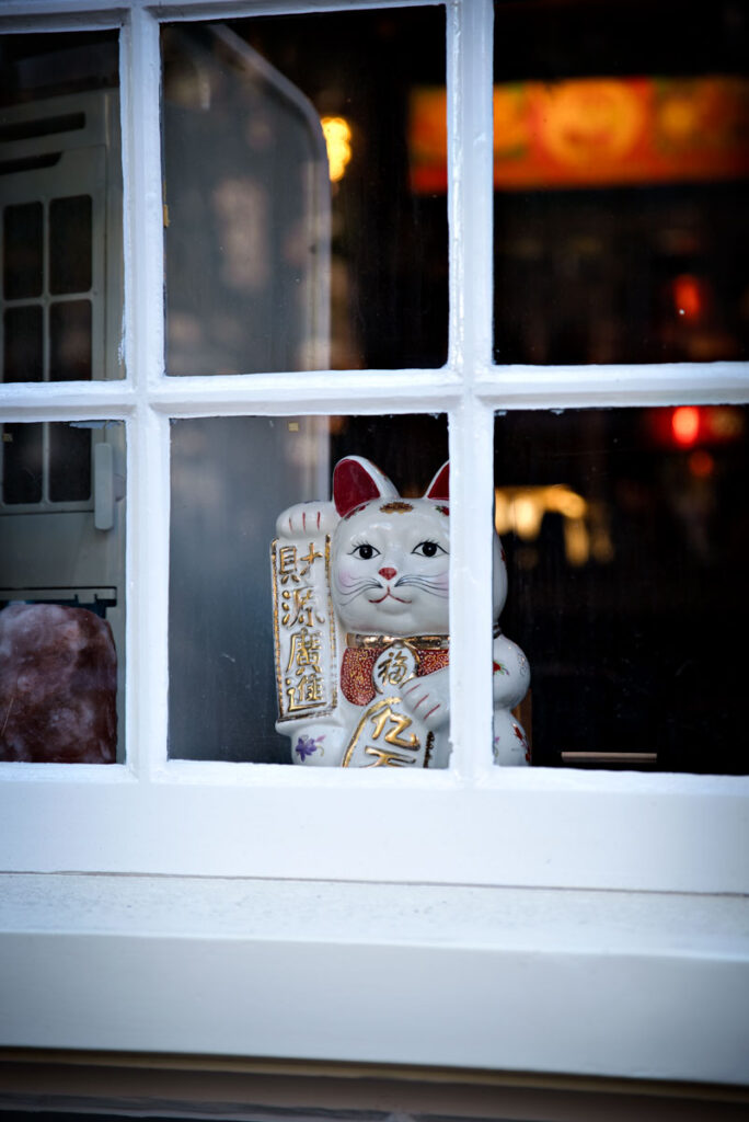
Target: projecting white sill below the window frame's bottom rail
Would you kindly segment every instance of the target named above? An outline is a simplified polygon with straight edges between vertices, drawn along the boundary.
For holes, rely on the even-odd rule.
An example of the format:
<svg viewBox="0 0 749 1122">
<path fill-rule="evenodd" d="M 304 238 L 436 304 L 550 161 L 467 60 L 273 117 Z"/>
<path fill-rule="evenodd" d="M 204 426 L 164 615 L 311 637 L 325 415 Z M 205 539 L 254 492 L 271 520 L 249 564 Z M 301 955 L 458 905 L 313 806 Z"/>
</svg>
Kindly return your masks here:
<svg viewBox="0 0 749 1122">
<path fill-rule="evenodd" d="M 0 901 L 0 1045 L 749 1082 L 746 900 L 21 876 Z"/>
</svg>

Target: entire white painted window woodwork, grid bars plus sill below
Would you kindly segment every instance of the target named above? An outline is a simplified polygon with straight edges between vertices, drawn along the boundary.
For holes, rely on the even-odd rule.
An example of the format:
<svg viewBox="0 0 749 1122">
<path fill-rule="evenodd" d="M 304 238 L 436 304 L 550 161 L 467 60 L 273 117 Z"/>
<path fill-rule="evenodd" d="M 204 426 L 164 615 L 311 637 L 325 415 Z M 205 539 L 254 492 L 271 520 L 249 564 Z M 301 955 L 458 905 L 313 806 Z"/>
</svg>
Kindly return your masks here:
<svg viewBox="0 0 749 1122">
<path fill-rule="evenodd" d="M 749 368 L 491 365 L 489 0 L 446 7 L 447 367 L 163 376 L 157 19 L 382 6 L 0 2 L 6 30 L 124 27 L 128 377 L 0 413 L 124 420 L 129 512 L 127 765 L 0 765 L 0 868 L 47 874 L 0 881 L 0 1041 L 749 1082 L 719 895 L 749 891 L 749 779 L 490 764 L 494 411 L 742 403 Z M 451 425 L 452 770 L 168 763 L 169 417 L 419 410 Z"/>
</svg>

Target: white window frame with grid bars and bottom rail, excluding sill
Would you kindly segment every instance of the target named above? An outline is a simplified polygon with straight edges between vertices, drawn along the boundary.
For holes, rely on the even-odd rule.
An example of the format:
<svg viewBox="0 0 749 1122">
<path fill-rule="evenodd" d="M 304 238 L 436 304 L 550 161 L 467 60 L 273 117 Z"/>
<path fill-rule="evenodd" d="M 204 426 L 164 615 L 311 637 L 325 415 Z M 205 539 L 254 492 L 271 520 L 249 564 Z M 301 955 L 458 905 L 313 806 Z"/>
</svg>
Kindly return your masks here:
<svg viewBox="0 0 749 1122">
<path fill-rule="evenodd" d="M 715 907 L 721 894 L 749 891 L 749 778 L 516 770 L 491 762 L 496 411 L 749 401 L 749 366 L 739 362 L 493 365 L 491 0 L 444 3 L 451 309 L 446 366 L 164 375 L 159 21 L 423 2 L 6 0 L 0 8 L 0 31 L 121 28 L 127 367 L 121 381 L 0 386 L 0 411 L 7 421 L 121 420 L 128 438 L 127 762 L 107 767 L 0 764 L 3 871 L 359 882 L 371 884 L 372 892 L 378 882 L 403 885 L 404 891 L 418 883 L 438 890 L 440 899 L 454 901 L 455 908 L 455 893 L 477 886 L 701 894 Z M 410 412 L 446 412 L 450 420 L 450 770 L 329 771 L 169 761 L 169 420 Z M 514 638 L 523 644 L 520 634 Z M 730 653 L 716 652 L 716 657 Z M 279 916 L 288 914 L 285 908 Z M 540 916 L 531 923 L 536 934 L 543 926 Z M 220 937 L 218 929 L 211 932 Z M 346 938 L 354 936 L 349 932 Z M 564 937 L 561 940 L 563 945 Z M 466 960 L 475 967 L 477 948 L 469 948 L 470 942 L 464 949 L 472 957 Z M 731 946 L 731 955 L 741 958 Z M 654 954 L 667 957 L 662 946 Z M 704 955 L 712 962 L 709 950 Z M 723 950 L 715 951 L 721 955 Z M 48 1045 L 49 1039 L 35 1041 Z M 112 1047 L 118 1039 L 115 1033 Z M 191 1038 L 191 1045 L 178 1033 L 175 1039 L 185 1049 L 196 1040 Z M 74 1046 L 85 1047 L 85 1040 Z M 202 1038 L 200 1046 L 206 1050 Z M 432 1052 L 441 1056 L 434 1061 L 450 1061 L 449 1051 Z M 329 1049 L 326 1055 L 340 1052 Z M 530 1058 L 530 1051 L 514 1054 L 509 1066 L 534 1066 Z M 429 1060 L 418 1051 L 414 1061 Z M 469 1060 L 461 1051 L 456 1061 Z M 681 1077 L 691 1077 L 694 1067 L 686 1066 L 692 1063 L 694 1057 L 684 1059 Z M 620 1070 L 613 1060 L 603 1069 Z M 679 1077 L 678 1063 L 664 1070 Z"/>
</svg>

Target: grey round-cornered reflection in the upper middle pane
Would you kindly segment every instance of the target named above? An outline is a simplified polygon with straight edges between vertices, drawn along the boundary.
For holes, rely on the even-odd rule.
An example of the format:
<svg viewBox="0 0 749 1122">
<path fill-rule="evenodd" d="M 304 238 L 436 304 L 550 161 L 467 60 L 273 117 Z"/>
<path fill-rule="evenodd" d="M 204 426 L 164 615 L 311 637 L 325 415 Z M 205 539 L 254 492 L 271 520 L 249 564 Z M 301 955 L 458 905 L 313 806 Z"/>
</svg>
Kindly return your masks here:
<svg viewBox="0 0 749 1122">
<path fill-rule="evenodd" d="M 326 369 L 330 183 L 316 110 L 224 26 L 168 27 L 163 44 L 167 373 Z"/>
</svg>

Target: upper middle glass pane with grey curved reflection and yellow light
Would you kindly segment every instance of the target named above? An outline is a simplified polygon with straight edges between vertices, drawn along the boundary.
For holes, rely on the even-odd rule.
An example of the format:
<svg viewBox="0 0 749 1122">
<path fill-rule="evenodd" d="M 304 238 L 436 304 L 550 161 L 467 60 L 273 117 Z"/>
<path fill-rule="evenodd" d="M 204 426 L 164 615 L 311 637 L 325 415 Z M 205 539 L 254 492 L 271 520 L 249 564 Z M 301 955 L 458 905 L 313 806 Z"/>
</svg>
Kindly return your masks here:
<svg viewBox="0 0 749 1122">
<path fill-rule="evenodd" d="M 446 200 L 409 153 L 444 10 L 181 25 L 163 52 L 167 371 L 443 365 Z"/>
</svg>

